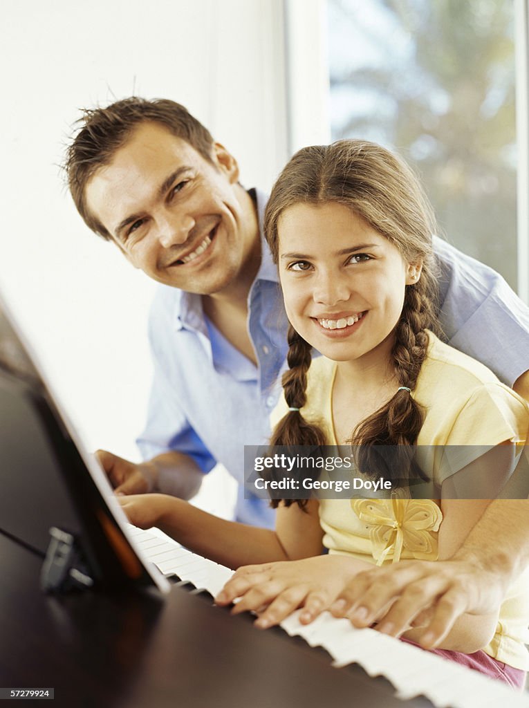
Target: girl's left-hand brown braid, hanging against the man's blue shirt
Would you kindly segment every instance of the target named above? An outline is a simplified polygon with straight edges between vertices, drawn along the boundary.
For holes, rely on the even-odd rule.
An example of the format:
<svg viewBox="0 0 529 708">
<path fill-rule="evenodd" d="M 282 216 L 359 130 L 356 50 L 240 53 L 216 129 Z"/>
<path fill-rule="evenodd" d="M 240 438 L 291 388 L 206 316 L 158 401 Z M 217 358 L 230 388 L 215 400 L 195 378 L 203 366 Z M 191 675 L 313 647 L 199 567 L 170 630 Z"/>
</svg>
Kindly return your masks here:
<svg viewBox="0 0 529 708">
<path fill-rule="evenodd" d="M 309 370 L 312 347 L 290 325 L 288 328 L 288 355 L 289 369 L 283 374 L 282 384 L 285 401 L 289 408 L 302 409 L 307 402 L 307 371 Z M 300 411 L 288 411 L 275 426 L 270 440 L 271 447 L 276 445 L 309 445 L 316 454 L 320 446 L 326 445 L 326 436 L 321 428 L 308 423 Z M 268 475 L 273 469 L 267 469 Z M 266 473 L 263 476 L 266 479 Z M 278 499 L 272 499 L 271 505 L 275 508 Z M 292 504 L 292 499 L 285 499 L 285 506 Z M 307 506 L 307 499 L 298 499 L 296 503 L 301 508 Z"/>
</svg>

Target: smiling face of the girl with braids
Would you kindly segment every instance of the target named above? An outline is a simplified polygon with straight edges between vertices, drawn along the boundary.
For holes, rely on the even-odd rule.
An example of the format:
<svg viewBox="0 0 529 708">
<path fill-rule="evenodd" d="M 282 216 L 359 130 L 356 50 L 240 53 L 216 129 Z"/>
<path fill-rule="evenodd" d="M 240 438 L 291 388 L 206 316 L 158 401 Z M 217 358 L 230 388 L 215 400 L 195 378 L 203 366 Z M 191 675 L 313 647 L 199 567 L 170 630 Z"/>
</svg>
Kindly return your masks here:
<svg viewBox="0 0 529 708">
<path fill-rule="evenodd" d="M 288 319 L 309 344 L 341 362 L 392 341 L 404 288 L 418 280 L 420 265 L 336 202 L 289 207 L 278 236 Z"/>
</svg>

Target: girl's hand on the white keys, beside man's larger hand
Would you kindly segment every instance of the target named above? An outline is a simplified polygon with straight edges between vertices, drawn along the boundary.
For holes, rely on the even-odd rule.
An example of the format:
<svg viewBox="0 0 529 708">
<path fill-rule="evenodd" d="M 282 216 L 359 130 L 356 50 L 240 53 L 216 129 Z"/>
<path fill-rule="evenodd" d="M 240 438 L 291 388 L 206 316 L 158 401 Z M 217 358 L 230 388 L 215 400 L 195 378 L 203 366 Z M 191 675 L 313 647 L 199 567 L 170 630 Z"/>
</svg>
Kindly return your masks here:
<svg viewBox="0 0 529 708">
<path fill-rule="evenodd" d="M 261 629 L 279 624 L 297 607 L 304 607 L 300 622 L 309 624 L 334 602 L 356 573 L 369 565 L 348 556 L 318 556 L 243 566 L 226 583 L 215 603 L 229 605 L 241 598 L 232 614 L 262 612 L 255 622 Z"/>
</svg>

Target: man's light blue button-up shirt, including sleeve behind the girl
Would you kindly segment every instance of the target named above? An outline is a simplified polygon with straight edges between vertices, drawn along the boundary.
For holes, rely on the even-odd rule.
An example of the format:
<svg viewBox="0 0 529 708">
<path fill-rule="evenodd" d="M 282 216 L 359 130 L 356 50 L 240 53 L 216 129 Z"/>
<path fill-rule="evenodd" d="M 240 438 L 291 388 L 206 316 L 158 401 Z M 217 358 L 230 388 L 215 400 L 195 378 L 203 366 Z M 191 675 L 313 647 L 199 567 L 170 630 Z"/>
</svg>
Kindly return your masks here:
<svg viewBox="0 0 529 708">
<path fill-rule="evenodd" d="M 259 224 L 265 195 L 257 192 Z M 489 366 L 506 384 L 529 369 L 529 310 L 494 270 L 436 239 L 441 268 L 441 326 L 448 343 Z M 262 261 L 248 298 L 249 333 L 258 366 L 234 348 L 203 313 L 202 297 L 160 285 L 149 319 L 154 382 L 145 459 L 185 452 L 203 472 L 222 462 L 239 482 L 237 519 L 273 525 L 260 499 L 244 499 L 244 445 L 262 445 L 278 399 L 288 321 L 278 274 L 262 239 Z M 171 493 L 171 479 L 161 491 Z"/>
</svg>

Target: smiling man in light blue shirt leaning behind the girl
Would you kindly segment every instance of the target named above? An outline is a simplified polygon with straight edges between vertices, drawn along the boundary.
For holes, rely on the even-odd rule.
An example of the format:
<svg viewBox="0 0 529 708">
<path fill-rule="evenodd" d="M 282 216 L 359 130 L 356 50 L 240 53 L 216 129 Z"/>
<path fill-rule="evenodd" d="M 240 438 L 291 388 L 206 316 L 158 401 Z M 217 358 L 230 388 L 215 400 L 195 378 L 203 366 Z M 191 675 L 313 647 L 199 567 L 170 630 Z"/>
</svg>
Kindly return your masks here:
<svg viewBox="0 0 529 708">
<path fill-rule="evenodd" d="M 244 444 L 268 436 L 285 359 L 278 277 L 261 234 L 265 198 L 181 105 L 128 98 L 87 111 L 67 155 L 81 217 L 161 283 L 150 318 L 154 383 L 134 464 L 100 451 L 118 493 L 190 498 L 222 462 L 239 482 L 237 518 L 270 525 L 244 500 Z M 529 397 L 527 309 L 493 271 L 436 240 L 449 343 Z M 506 351 L 505 343 L 510 349 Z"/>
</svg>

